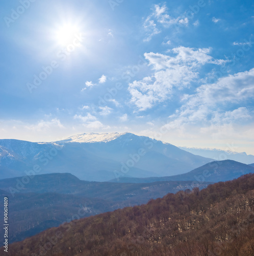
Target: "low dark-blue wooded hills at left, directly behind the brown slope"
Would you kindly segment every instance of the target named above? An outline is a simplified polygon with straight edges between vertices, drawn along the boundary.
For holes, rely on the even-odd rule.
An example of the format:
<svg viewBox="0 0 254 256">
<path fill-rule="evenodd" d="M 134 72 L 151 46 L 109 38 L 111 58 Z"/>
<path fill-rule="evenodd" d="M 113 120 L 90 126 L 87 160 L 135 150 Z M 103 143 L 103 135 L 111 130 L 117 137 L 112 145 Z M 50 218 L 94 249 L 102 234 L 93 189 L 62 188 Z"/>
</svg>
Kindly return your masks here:
<svg viewBox="0 0 254 256">
<path fill-rule="evenodd" d="M 9 198 L 9 243 L 21 241 L 47 228 L 79 218 L 147 203 L 179 190 L 200 189 L 210 182 L 160 181 L 145 184 L 119 184 L 82 181 L 71 174 L 36 175 L 29 182 L 23 177 L 0 180 L 0 196 Z M 3 241 L 0 237 L 0 242 Z"/>
</svg>

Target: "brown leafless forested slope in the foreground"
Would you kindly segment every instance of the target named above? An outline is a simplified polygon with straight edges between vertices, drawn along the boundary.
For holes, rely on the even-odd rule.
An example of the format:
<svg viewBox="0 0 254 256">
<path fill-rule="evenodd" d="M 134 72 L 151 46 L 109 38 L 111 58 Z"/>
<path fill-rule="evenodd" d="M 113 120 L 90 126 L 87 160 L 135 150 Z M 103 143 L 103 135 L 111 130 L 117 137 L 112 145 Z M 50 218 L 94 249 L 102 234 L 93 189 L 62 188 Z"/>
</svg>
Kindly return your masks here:
<svg viewBox="0 0 254 256">
<path fill-rule="evenodd" d="M 9 255 L 251 256 L 253 198 L 254 175 L 245 175 L 51 228 Z"/>
</svg>

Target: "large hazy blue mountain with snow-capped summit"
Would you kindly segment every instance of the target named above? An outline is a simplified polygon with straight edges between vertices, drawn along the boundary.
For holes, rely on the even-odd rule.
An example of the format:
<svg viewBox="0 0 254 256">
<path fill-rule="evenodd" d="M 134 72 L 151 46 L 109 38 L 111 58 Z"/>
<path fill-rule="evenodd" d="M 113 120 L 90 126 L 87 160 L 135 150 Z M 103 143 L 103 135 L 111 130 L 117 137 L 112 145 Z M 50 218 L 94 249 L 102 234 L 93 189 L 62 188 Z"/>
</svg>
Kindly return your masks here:
<svg viewBox="0 0 254 256">
<path fill-rule="evenodd" d="M 161 177 L 183 174 L 211 161 L 131 133 L 90 133 L 39 143 L 0 140 L 0 179 L 47 173 L 71 173 L 88 181 Z"/>
</svg>

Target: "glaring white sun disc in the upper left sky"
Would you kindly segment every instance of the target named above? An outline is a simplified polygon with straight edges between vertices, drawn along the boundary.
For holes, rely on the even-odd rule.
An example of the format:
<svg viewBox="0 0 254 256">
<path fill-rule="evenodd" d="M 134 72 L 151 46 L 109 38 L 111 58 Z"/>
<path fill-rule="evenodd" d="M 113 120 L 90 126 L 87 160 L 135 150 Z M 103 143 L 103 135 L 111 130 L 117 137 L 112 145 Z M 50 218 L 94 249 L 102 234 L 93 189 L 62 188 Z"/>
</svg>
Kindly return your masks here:
<svg viewBox="0 0 254 256">
<path fill-rule="evenodd" d="M 71 24 L 65 24 L 57 30 L 56 40 L 59 45 L 67 46 L 73 41 L 76 34 L 79 34 L 78 27 Z"/>
</svg>

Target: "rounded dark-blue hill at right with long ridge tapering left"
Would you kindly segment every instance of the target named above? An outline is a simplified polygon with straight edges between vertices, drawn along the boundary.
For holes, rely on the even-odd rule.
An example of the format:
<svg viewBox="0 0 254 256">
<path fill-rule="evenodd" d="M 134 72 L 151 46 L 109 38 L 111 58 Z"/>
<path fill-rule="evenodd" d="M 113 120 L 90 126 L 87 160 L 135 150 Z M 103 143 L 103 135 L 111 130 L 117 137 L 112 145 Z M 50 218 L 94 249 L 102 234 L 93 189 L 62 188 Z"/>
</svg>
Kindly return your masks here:
<svg viewBox="0 0 254 256">
<path fill-rule="evenodd" d="M 233 160 L 214 161 L 200 166 L 191 172 L 168 177 L 129 178 L 120 177 L 111 182 L 145 183 L 155 181 L 191 180 L 197 182 L 219 182 L 237 179 L 244 174 L 254 173 L 254 167 Z"/>
</svg>

